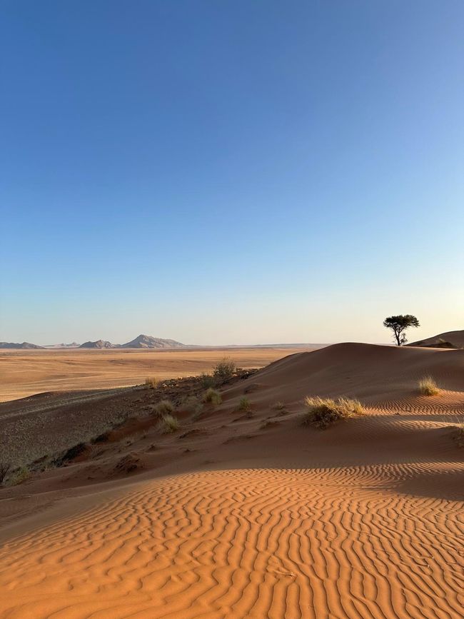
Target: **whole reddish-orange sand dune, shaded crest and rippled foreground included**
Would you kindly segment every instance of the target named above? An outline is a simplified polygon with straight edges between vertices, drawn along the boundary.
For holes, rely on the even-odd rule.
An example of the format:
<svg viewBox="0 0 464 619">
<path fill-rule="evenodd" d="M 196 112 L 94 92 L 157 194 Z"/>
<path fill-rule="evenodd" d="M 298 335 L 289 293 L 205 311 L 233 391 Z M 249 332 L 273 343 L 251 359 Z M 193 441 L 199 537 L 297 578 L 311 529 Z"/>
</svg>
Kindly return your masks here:
<svg viewBox="0 0 464 619">
<path fill-rule="evenodd" d="M 436 396 L 417 391 L 428 374 Z M 236 381 L 196 418 L 179 408 L 176 433 L 137 417 L 143 433 L 1 490 L 0 616 L 460 618 L 463 376 L 464 351 L 341 344 Z M 306 395 L 366 414 L 302 427 Z M 136 470 L 116 473 L 128 455 Z"/>
</svg>

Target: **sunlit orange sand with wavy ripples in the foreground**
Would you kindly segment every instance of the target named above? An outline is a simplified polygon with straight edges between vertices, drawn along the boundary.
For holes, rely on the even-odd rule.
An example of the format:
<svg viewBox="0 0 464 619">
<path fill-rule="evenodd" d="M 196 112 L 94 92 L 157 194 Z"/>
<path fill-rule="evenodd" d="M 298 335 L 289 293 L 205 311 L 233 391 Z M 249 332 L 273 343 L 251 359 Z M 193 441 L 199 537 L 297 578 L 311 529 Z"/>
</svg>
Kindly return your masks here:
<svg viewBox="0 0 464 619">
<path fill-rule="evenodd" d="M 385 490 L 408 475 L 226 470 L 137 485 L 6 543 L 1 617 L 458 618 L 463 504 Z"/>
</svg>

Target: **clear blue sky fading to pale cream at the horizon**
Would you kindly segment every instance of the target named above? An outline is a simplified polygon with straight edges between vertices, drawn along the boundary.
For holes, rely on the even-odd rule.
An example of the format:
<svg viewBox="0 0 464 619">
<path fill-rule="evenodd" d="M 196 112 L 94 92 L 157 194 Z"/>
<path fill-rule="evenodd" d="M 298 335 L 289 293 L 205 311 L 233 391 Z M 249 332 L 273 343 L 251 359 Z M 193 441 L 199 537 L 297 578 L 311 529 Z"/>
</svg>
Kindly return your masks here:
<svg viewBox="0 0 464 619">
<path fill-rule="evenodd" d="M 464 328 L 462 0 L 2 0 L 0 341 Z"/>
</svg>

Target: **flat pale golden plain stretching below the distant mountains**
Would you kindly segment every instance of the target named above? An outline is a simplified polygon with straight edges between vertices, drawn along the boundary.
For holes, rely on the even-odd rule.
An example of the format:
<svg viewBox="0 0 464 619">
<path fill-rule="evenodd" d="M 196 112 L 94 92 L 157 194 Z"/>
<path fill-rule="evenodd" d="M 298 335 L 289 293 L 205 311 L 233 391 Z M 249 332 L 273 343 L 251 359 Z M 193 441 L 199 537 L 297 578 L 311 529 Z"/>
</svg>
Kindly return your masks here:
<svg viewBox="0 0 464 619">
<path fill-rule="evenodd" d="M 311 348 L 309 348 L 311 349 Z M 262 368 L 302 348 L 193 348 L 156 350 L 0 351 L 0 402 L 44 391 L 123 387 L 147 376 L 171 378 L 209 372 L 224 356 L 242 368 Z"/>
</svg>

